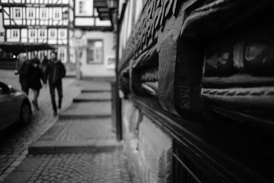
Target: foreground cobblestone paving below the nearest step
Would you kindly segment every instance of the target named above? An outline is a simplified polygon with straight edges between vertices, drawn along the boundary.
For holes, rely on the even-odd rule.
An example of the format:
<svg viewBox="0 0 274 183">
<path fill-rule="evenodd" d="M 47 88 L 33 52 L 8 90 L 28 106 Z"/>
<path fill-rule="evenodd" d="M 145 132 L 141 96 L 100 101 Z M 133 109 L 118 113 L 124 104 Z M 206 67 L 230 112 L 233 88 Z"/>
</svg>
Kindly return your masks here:
<svg viewBox="0 0 274 183">
<path fill-rule="evenodd" d="M 27 183 L 130 182 L 125 158 L 119 152 L 51 154 L 31 158 L 42 158 L 42 162 Z"/>
</svg>

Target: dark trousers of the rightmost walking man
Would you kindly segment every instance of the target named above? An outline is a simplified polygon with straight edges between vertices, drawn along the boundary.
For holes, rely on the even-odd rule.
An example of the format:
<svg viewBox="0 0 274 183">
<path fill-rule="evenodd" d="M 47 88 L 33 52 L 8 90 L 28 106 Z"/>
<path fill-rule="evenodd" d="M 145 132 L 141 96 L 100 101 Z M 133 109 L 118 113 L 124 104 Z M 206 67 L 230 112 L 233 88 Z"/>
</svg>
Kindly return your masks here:
<svg viewBox="0 0 274 183">
<path fill-rule="evenodd" d="M 62 82 L 58 82 L 56 84 L 49 84 L 49 92 L 51 93 L 52 108 L 54 112 L 57 112 L 57 106 L 55 102 L 55 89 L 57 89 L 58 105 L 60 108 L 60 106 L 62 105 L 62 97 L 63 97 Z"/>
</svg>

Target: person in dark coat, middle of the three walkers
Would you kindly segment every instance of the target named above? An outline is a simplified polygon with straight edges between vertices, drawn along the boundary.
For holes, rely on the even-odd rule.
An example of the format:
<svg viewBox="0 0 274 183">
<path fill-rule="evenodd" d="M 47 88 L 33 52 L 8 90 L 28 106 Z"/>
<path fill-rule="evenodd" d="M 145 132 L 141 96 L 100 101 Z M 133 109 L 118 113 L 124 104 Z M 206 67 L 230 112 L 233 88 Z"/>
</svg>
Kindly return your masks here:
<svg viewBox="0 0 274 183">
<path fill-rule="evenodd" d="M 41 81 L 43 81 L 44 78 L 42 70 L 39 67 L 40 61 L 38 58 L 35 57 L 34 59 L 30 60 L 30 63 L 32 64 L 32 69 L 29 77 L 29 88 L 31 88 L 34 93 L 32 104 L 34 104 L 36 110 L 39 110 L 38 97 L 40 94 L 40 89 L 42 88 Z"/>
</svg>

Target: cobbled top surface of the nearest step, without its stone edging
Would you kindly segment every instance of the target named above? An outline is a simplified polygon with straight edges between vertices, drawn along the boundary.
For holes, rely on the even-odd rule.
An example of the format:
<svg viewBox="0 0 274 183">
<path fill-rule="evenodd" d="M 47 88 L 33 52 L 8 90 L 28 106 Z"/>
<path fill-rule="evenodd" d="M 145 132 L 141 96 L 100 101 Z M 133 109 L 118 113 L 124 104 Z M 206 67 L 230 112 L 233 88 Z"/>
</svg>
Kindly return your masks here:
<svg viewBox="0 0 274 183">
<path fill-rule="evenodd" d="M 64 121 L 64 120 L 62 120 Z M 66 126 L 55 141 L 115 139 L 110 119 L 66 120 Z"/>
</svg>

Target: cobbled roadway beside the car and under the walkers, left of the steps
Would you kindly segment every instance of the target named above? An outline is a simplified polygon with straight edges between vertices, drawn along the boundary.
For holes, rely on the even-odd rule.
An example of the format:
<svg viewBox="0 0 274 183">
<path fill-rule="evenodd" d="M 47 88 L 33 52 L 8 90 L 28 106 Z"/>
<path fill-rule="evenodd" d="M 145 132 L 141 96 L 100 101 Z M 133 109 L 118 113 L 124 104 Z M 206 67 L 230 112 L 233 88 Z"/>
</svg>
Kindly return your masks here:
<svg viewBox="0 0 274 183">
<path fill-rule="evenodd" d="M 20 88 L 18 77 L 14 76 L 13 71 L 0 70 L 0 81 L 11 84 L 14 88 Z M 64 79 L 64 108 L 69 106 L 73 97 L 79 94 L 79 88 L 71 86 L 73 82 L 73 79 Z M 30 92 L 29 98 L 32 99 L 32 92 Z M 40 110 L 34 111 L 31 124 L 26 127 L 14 125 L 1 132 L 0 182 L 26 157 L 28 145 L 36 141 L 56 121 L 52 115 L 49 88 L 42 88 L 38 102 Z"/>
</svg>

